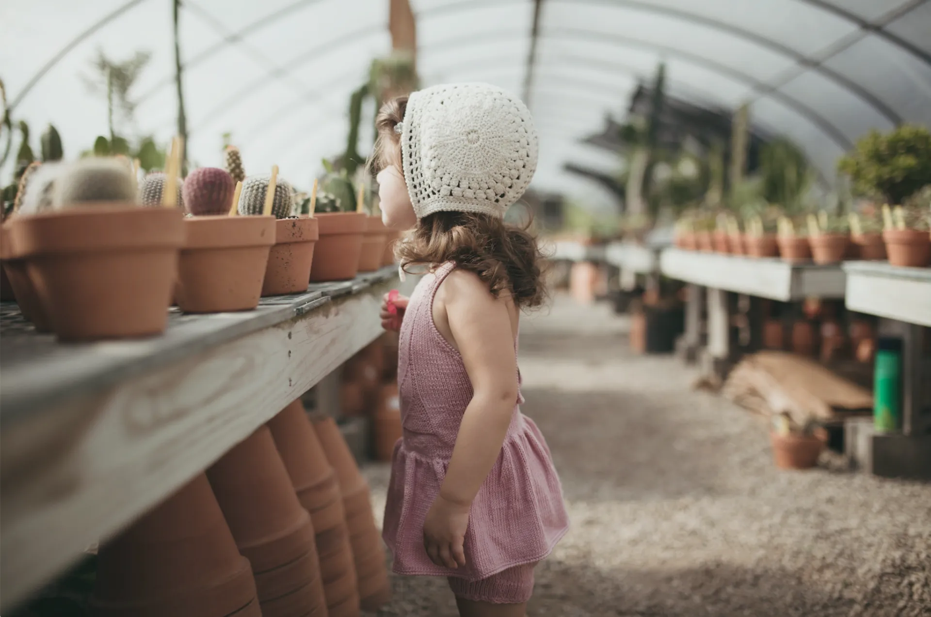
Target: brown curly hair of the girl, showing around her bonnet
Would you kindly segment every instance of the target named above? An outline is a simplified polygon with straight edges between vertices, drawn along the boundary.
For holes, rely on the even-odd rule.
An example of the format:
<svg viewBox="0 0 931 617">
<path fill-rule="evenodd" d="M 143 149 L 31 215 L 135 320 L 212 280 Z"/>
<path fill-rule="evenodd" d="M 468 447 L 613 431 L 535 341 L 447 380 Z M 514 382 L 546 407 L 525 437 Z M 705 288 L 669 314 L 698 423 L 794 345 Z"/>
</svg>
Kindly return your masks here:
<svg viewBox="0 0 931 617">
<path fill-rule="evenodd" d="M 378 138 L 369 160 L 373 173 L 394 165 L 404 174 L 395 126 L 404 120 L 407 101 L 392 98 L 375 118 Z M 544 256 L 530 231 L 532 224 L 517 227 L 486 214 L 435 212 L 417 221 L 410 236 L 396 245 L 395 255 L 406 272 L 412 265 L 452 261 L 456 268 L 475 272 L 494 297 L 508 292 L 518 308 L 539 307 L 546 301 Z"/>
</svg>

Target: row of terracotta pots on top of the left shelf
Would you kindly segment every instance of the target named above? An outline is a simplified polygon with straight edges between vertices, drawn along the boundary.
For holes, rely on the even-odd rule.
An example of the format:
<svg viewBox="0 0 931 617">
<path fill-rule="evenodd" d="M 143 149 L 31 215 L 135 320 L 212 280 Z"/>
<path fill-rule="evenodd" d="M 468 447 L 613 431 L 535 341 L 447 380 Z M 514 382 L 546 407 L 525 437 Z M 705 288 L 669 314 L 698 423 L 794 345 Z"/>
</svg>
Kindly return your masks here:
<svg viewBox="0 0 931 617">
<path fill-rule="evenodd" d="M 61 340 L 158 335 L 185 312 L 256 308 L 260 296 L 389 265 L 394 240 L 361 213 L 182 217 L 126 204 L 14 217 L 0 260 L 23 316 Z M 317 259 L 314 259 L 314 255 Z"/>
</svg>

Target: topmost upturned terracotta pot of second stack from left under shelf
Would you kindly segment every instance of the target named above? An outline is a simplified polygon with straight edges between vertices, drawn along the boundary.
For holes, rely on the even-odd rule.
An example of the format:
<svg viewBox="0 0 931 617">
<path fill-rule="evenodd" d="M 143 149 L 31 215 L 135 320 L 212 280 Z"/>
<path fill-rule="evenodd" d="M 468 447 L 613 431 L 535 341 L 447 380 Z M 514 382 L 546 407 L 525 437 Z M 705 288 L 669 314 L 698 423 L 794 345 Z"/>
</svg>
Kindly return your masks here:
<svg viewBox="0 0 931 617">
<path fill-rule="evenodd" d="M 267 427 L 236 445 L 207 475 L 252 571 L 272 570 L 313 548 L 310 516 L 294 493 Z"/>
</svg>

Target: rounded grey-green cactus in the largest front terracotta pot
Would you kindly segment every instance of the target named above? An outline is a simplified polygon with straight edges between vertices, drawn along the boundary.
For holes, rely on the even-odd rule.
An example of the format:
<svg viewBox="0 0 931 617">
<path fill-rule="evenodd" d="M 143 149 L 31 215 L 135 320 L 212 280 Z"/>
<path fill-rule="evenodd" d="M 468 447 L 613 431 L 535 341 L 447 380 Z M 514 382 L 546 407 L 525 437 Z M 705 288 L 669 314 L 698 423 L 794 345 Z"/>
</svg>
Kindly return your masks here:
<svg viewBox="0 0 931 617">
<path fill-rule="evenodd" d="M 52 205 L 67 208 L 84 202 L 136 201 L 136 183 L 127 164 L 89 157 L 66 165 L 55 180 Z"/>
</svg>

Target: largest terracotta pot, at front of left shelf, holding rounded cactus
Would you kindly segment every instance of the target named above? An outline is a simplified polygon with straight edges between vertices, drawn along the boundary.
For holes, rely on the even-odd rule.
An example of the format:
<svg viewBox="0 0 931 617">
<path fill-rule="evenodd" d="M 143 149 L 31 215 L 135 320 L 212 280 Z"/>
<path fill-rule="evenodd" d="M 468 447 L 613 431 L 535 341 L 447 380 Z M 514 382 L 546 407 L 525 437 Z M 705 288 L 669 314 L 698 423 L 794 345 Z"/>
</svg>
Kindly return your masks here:
<svg viewBox="0 0 931 617">
<path fill-rule="evenodd" d="M 175 208 L 82 204 L 15 217 L 9 232 L 59 338 L 123 338 L 165 331 L 182 219 Z"/>
</svg>

